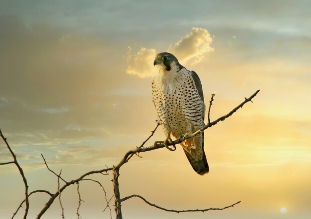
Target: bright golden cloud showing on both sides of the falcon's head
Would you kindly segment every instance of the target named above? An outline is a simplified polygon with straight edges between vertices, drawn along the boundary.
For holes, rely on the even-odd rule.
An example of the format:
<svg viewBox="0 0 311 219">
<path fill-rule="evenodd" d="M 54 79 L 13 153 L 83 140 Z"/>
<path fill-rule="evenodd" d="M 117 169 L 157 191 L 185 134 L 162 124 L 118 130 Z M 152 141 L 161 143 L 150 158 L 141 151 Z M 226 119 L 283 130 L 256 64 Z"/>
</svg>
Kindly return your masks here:
<svg viewBox="0 0 311 219">
<path fill-rule="evenodd" d="M 188 61 L 191 61 L 191 64 L 196 64 L 204 60 L 208 53 L 214 51 L 214 48 L 210 47 L 212 41 L 213 39 L 206 29 L 193 27 L 190 33 L 169 46 L 167 52 L 174 54 L 182 64 Z M 152 77 L 156 73 L 152 64 L 155 56 L 155 49 L 141 48 L 140 51 L 133 54 L 132 48 L 129 47 L 126 73 L 142 78 Z"/>
</svg>

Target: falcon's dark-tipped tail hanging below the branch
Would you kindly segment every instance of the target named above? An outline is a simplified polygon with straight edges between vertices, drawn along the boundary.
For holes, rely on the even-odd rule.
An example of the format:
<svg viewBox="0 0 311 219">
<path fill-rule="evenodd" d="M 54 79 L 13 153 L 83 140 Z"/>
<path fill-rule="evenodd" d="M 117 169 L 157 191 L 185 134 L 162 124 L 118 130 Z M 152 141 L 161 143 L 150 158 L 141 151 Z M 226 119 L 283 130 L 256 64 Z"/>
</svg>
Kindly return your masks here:
<svg viewBox="0 0 311 219">
<path fill-rule="evenodd" d="M 205 152 L 204 152 L 204 133 L 199 134 L 193 138 L 186 139 L 186 145 L 187 145 L 186 147 L 189 147 L 192 144 L 194 145 L 195 148 L 197 149 L 200 148 L 199 151 L 201 151 L 201 148 L 202 148 L 202 157 L 200 156 L 200 158 L 195 159 L 195 157 L 197 157 L 194 152 L 195 150 L 193 151 L 191 150 L 190 152 L 188 152 L 185 149 L 185 147 L 182 147 L 182 148 L 192 168 L 200 175 L 204 175 L 205 173 L 209 172 L 209 165 L 207 163 Z M 194 155 L 191 155 L 190 153 L 191 154 L 194 153 Z"/>
</svg>

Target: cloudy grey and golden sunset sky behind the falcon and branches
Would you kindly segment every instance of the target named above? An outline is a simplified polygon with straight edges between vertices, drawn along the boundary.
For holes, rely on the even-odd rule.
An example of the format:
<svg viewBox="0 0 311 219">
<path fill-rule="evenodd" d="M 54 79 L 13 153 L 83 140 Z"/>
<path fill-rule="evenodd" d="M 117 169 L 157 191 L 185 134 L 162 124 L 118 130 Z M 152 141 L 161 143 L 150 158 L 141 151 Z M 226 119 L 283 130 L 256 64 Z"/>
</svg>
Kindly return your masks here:
<svg viewBox="0 0 311 219">
<path fill-rule="evenodd" d="M 195 173 L 181 147 L 133 157 L 120 170 L 126 219 L 309 219 L 311 217 L 311 2 L 309 0 L 0 0 L 0 128 L 30 191 L 118 164 L 156 126 L 155 55 L 173 53 L 199 75 L 211 120 L 260 89 L 205 131 L 210 172 Z M 207 121 L 205 121 L 207 122 Z M 159 128 L 147 143 L 164 140 Z M 0 163 L 12 158 L 0 143 Z M 94 175 L 112 196 L 110 175 Z M 24 198 L 17 168 L 0 166 L 0 215 Z M 81 182 L 82 218 L 110 218 L 101 188 Z M 5 198 L 3 198 L 5 197 Z M 29 218 L 48 201 L 30 198 Z M 62 195 L 77 218 L 77 186 Z M 23 209 L 17 215 L 22 218 Z M 113 212 L 112 212 L 113 213 Z M 55 202 L 44 219 L 61 218 Z"/>
</svg>

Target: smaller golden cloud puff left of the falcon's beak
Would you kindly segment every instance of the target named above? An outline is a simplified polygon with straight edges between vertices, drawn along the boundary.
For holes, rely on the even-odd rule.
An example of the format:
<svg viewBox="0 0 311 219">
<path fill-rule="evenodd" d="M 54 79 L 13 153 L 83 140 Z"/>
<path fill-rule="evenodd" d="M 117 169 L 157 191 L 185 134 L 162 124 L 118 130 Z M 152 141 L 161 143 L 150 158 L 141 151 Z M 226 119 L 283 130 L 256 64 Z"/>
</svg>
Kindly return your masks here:
<svg viewBox="0 0 311 219">
<path fill-rule="evenodd" d="M 129 47 L 129 55 L 127 56 L 128 67 L 126 73 L 136 74 L 139 77 L 151 77 L 155 74 L 153 60 L 156 56 L 155 49 L 141 48 L 141 50 L 131 55 L 132 48 Z"/>
</svg>

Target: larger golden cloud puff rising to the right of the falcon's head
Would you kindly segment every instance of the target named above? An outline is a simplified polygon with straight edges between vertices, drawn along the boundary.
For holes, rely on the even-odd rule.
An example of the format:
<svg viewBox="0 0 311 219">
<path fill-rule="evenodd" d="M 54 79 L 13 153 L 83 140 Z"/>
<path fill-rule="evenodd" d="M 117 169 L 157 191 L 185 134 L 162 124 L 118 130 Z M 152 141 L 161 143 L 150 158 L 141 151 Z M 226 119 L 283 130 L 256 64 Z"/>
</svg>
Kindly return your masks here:
<svg viewBox="0 0 311 219">
<path fill-rule="evenodd" d="M 176 55 L 180 62 L 191 60 L 191 64 L 199 63 L 206 55 L 214 51 L 210 47 L 213 39 L 204 28 L 193 27 L 191 32 L 181 38 L 173 46 L 169 46 L 168 52 Z"/>
</svg>

